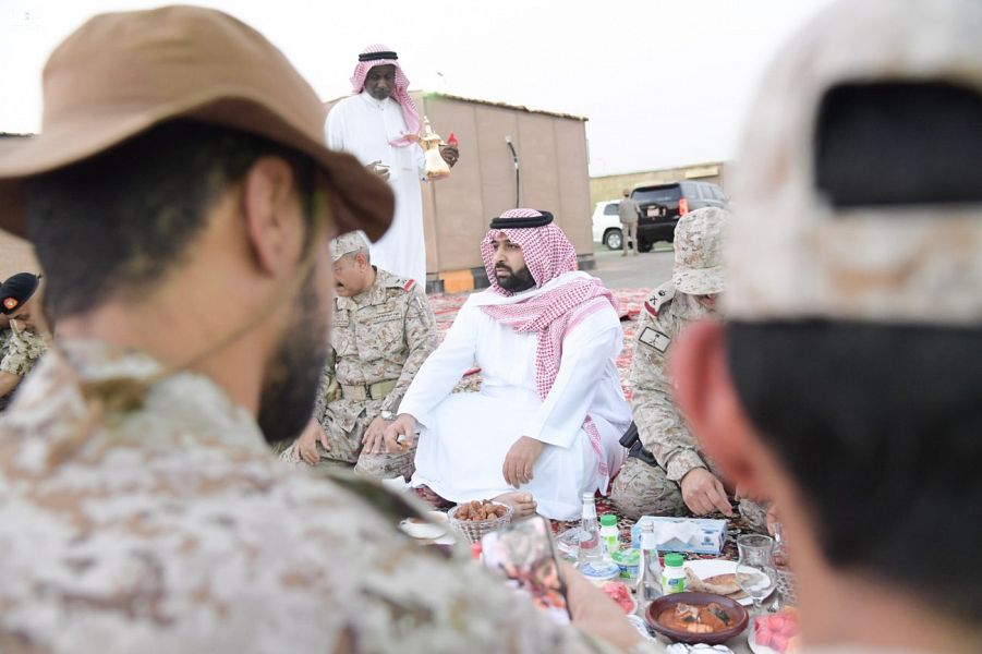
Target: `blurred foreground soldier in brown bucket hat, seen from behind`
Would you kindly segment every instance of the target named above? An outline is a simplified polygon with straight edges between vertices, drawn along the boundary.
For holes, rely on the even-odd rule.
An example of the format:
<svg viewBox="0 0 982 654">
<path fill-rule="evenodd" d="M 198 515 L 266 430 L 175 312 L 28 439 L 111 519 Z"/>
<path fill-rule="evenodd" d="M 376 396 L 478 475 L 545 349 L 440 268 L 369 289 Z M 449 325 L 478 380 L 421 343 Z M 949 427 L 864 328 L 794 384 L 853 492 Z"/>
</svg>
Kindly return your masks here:
<svg viewBox="0 0 982 654">
<path fill-rule="evenodd" d="M 98 16 L 52 53 L 44 116 L 0 149 L 0 227 L 59 332 L 0 420 L 0 649 L 613 649 L 409 542 L 379 486 L 269 452 L 313 409 L 328 239 L 378 238 L 393 204 L 279 50 L 206 9 Z M 584 629 L 640 642 L 571 583 Z"/>
</svg>

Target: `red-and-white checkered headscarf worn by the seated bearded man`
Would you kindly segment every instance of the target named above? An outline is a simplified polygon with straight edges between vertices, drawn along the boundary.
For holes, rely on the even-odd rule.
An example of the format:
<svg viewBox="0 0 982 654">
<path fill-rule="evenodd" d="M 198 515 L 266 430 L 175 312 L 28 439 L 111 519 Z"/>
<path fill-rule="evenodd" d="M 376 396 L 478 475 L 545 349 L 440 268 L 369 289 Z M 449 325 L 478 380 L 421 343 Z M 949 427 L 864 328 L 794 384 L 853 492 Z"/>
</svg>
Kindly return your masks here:
<svg viewBox="0 0 982 654">
<path fill-rule="evenodd" d="M 542 216 L 535 209 L 511 209 L 501 218 L 532 218 Z M 525 266 L 536 287 L 577 269 L 577 251 L 556 225 L 518 229 L 492 229 L 481 243 L 481 256 L 490 281 L 492 290 L 501 295 L 513 295 L 498 286 L 495 276 L 494 239 L 504 234 L 522 249 Z M 545 293 L 509 304 L 490 304 L 481 308 L 494 319 L 508 325 L 514 331 L 536 334 L 535 389 L 543 400 L 549 395 L 559 364 L 562 360 L 562 341 L 583 319 L 610 304 L 617 311 L 614 294 L 596 278 L 578 278 Z M 583 428 L 590 435 L 590 444 L 597 456 L 599 473 L 609 476 L 607 458 L 599 432 L 587 415 Z"/>
</svg>

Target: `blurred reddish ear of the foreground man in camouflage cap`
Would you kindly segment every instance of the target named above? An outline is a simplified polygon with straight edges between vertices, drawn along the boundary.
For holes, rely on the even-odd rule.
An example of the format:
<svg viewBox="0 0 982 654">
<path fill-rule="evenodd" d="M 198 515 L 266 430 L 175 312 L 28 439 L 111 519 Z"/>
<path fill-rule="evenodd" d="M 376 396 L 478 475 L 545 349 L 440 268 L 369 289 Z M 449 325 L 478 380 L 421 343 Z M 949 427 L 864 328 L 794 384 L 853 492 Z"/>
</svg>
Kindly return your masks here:
<svg viewBox="0 0 982 654">
<path fill-rule="evenodd" d="M 726 330 L 719 323 L 690 325 L 676 339 L 669 365 L 676 401 L 703 449 L 731 483 L 765 496 L 762 445 L 750 423 L 726 362 Z"/>
</svg>

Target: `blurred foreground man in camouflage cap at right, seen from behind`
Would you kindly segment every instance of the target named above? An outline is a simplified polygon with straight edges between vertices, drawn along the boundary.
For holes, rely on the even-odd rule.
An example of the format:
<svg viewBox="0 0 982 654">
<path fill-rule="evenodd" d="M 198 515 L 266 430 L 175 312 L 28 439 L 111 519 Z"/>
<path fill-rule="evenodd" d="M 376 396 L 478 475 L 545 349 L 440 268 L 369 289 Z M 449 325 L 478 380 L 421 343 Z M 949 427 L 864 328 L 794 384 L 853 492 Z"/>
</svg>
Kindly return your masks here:
<svg viewBox="0 0 982 654">
<path fill-rule="evenodd" d="M 975 0 L 852 0 L 793 38 L 726 323 L 674 346 L 693 431 L 787 525 L 802 653 L 982 651 L 980 31 Z"/>
</svg>

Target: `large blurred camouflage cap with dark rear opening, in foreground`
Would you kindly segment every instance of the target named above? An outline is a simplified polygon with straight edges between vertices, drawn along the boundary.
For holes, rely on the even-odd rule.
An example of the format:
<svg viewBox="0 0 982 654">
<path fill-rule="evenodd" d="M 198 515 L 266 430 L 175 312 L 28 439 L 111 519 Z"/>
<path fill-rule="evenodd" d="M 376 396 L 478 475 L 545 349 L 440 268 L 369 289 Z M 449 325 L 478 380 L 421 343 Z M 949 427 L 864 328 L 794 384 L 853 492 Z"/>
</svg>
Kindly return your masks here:
<svg viewBox="0 0 982 654">
<path fill-rule="evenodd" d="M 978 0 L 840 0 L 791 39 L 764 77 L 738 157 L 730 318 L 982 320 L 982 205 L 837 208 L 813 171 L 827 90 L 947 82 L 982 92 L 980 34 Z"/>
</svg>

